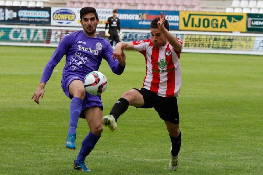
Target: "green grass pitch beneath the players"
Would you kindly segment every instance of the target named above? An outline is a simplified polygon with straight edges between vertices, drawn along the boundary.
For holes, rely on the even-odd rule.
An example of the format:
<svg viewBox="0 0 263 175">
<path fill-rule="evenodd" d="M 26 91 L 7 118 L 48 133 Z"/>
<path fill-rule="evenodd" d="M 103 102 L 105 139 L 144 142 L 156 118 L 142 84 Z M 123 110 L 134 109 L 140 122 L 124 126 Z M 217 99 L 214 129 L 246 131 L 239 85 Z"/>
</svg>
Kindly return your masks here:
<svg viewBox="0 0 263 175">
<path fill-rule="evenodd" d="M 61 89 L 65 59 L 55 67 L 40 105 L 30 100 L 55 48 L 0 46 L 0 174 L 83 174 L 73 169 L 77 148 L 67 150 L 70 99 Z M 125 51 L 121 76 L 105 60 L 104 114 L 124 91 L 141 88 L 144 57 Z M 179 168 L 170 172 L 170 138 L 154 109 L 132 106 L 118 130 L 104 127 L 86 158 L 93 174 L 262 174 L 263 58 L 255 55 L 182 53 L 178 98 L 182 145 Z"/>
</svg>

